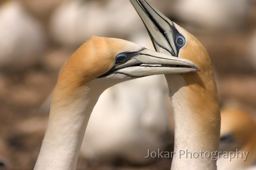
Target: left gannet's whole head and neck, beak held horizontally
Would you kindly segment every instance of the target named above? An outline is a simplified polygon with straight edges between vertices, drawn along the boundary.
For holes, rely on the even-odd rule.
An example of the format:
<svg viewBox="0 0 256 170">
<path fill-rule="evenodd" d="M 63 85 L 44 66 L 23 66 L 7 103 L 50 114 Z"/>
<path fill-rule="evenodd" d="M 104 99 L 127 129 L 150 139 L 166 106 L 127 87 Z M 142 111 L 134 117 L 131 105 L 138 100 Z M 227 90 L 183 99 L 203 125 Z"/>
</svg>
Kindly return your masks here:
<svg viewBox="0 0 256 170">
<path fill-rule="evenodd" d="M 166 66 L 155 67 L 155 64 Z M 76 168 L 90 114 L 108 87 L 149 75 L 194 71 L 198 67 L 191 61 L 129 41 L 92 36 L 74 52 L 60 73 L 34 169 Z"/>
</svg>

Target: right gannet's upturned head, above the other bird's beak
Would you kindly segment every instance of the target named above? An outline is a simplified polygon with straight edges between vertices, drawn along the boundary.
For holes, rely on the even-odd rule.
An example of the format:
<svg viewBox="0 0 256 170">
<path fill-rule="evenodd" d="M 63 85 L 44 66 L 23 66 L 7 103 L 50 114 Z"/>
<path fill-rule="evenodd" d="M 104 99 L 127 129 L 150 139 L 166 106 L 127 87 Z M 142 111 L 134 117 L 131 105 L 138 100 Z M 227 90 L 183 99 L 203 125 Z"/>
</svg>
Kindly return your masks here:
<svg viewBox="0 0 256 170">
<path fill-rule="evenodd" d="M 197 63 L 201 71 L 209 69 L 209 55 L 191 33 L 172 22 L 147 0 L 130 2 L 145 24 L 156 51 L 191 60 Z"/>
</svg>

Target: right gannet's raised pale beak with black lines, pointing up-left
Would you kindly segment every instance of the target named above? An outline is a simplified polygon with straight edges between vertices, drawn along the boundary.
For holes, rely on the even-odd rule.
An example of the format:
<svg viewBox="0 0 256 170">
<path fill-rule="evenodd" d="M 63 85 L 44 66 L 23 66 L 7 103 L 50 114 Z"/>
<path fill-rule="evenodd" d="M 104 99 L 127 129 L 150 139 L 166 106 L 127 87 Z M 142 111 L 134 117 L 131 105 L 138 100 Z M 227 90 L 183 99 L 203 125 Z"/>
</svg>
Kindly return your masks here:
<svg viewBox="0 0 256 170">
<path fill-rule="evenodd" d="M 179 48 L 175 41 L 178 34 L 174 23 L 164 16 L 147 0 L 130 0 L 142 19 L 156 51 L 168 51 L 172 56 L 178 56 Z"/>
</svg>

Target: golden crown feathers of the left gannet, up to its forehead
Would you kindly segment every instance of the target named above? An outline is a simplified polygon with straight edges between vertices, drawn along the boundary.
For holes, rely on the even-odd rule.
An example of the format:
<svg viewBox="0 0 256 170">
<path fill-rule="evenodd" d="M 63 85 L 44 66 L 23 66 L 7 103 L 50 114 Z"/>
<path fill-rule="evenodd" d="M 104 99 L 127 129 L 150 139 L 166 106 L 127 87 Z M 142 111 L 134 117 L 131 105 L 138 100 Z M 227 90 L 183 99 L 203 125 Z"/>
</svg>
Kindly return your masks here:
<svg viewBox="0 0 256 170">
<path fill-rule="evenodd" d="M 77 82 L 87 83 L 108 72 L 118 53 L 139 49 L 138 45 L 126 40 L 91 36 L 69 58 L 60 77 L 78 78 Z"/>
</svg>

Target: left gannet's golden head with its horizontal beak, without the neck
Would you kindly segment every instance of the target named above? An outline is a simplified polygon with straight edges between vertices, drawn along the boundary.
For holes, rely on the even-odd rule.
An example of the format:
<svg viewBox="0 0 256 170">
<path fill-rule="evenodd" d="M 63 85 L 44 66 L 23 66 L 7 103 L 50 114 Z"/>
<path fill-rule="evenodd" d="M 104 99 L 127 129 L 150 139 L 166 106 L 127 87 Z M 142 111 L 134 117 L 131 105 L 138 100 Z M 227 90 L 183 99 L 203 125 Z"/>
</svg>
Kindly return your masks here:
<svg viewBox="0 0 256 170">
<path fill-rule="evenodd" d="M 66 62 L 53 99 L 68 94 L 77 96 L 72 94 L 79 93 L 84 86 L 101 94 L 108 87 L 130 79 L 194 71 L 198 71 L 198 67 L 189 60 L 148 50 L 126 40 L 92 36 Z"/>
</svg>

